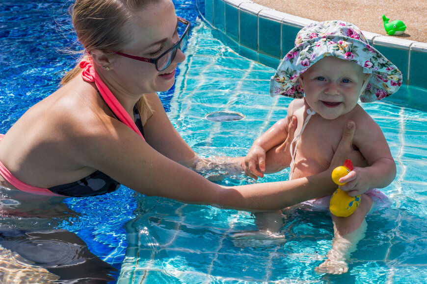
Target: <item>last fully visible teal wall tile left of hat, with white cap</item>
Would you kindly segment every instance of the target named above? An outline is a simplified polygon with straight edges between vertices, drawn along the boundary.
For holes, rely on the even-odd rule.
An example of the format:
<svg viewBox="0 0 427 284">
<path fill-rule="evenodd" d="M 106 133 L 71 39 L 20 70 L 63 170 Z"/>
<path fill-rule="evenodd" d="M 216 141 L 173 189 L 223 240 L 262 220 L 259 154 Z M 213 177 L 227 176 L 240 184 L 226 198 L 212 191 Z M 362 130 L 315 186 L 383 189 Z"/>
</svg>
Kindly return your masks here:
<svg viewBox="0 0 427 284">
<path fill-rule="evenodd" d="M 285 14 L 262 10 L 258 15 L 258 52 L 281 58 L 281 29 Z"/>
</svg>

